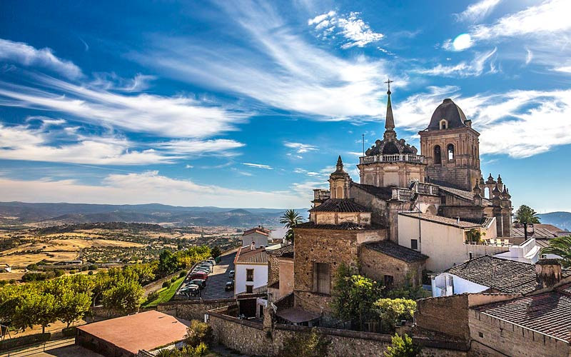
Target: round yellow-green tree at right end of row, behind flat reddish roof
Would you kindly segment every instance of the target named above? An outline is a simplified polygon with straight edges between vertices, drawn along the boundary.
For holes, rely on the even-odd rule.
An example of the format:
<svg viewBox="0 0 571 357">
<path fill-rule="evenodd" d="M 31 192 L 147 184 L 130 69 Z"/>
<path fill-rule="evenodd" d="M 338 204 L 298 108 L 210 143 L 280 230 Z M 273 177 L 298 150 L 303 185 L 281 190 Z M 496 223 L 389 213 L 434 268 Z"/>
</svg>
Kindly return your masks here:
<svg viewBox="0 0 571 357">
<path fill-rule="evenodd" d="M 137 281 L 118 281 L 116 286 L 103 291 L 103 306 L 132 313 L 141 306 L 143 293 L 144 290 Z"/>
</svg>

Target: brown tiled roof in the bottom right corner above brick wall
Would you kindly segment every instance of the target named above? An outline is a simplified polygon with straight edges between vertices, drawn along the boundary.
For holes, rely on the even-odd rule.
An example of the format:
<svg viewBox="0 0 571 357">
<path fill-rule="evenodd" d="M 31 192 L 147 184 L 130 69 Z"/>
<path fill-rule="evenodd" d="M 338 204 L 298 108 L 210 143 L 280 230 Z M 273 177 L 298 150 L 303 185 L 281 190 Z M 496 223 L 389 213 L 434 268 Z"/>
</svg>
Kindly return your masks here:
<svg viewBox="0 0 571 357">
<path fill-rule="evenodd" d="M 571 284 L 548 293 L 490 303 L 474 309 L 571 342 Z"/>
</svg>

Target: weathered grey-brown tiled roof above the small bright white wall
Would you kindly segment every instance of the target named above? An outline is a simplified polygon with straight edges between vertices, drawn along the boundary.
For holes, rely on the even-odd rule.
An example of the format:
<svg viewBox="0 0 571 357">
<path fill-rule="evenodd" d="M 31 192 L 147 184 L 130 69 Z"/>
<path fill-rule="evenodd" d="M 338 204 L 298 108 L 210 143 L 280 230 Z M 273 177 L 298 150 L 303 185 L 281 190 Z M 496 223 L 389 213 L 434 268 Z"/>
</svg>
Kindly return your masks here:
<svg viewBox="0 0 571 357">
<path fill-rule="evenodd" d="M 534 264 L 494 256 L 474 258 L 447 272 L 502 293 L 530 293 L 537 287 Z M 571 276 L 571 271 L 564 269 L 562 276 Z"/>
</svg>

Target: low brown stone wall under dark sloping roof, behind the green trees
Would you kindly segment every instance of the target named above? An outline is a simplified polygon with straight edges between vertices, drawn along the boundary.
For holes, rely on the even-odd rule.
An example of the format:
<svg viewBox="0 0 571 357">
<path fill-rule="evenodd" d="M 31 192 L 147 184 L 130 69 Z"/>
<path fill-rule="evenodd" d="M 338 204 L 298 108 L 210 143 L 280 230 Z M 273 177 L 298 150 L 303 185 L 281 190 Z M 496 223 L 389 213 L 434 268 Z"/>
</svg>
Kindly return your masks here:
<svg viewBox="0 0 571 357">
<path fill-rule="evenodd" d="M 410 282 L 415 286 L 422 284 L 422 262 L 406 263 L 362 246 L 359 251 L 361 273 L 379 283 L 383 283 L 385 275 L 393 276 L 395 286 L 402 286 L 410 276 Z"/>
</svg>

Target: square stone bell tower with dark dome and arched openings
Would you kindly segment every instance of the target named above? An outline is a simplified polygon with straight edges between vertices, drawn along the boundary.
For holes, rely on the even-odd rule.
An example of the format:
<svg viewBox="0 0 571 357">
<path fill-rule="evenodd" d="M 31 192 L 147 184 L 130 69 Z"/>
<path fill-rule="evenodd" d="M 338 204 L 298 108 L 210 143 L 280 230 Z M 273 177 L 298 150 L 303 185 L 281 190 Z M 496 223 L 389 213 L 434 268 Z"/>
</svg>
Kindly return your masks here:
<svg viewBox="0 0 571 357">
<path fill-rule="evenodd" d="M 426 180 L 465 191 L 480 181 L 480 133 L 452 99 L 436 108 L 428 128 L 419 131 L 420 152 L 426 158 Z"/>
</svg>

